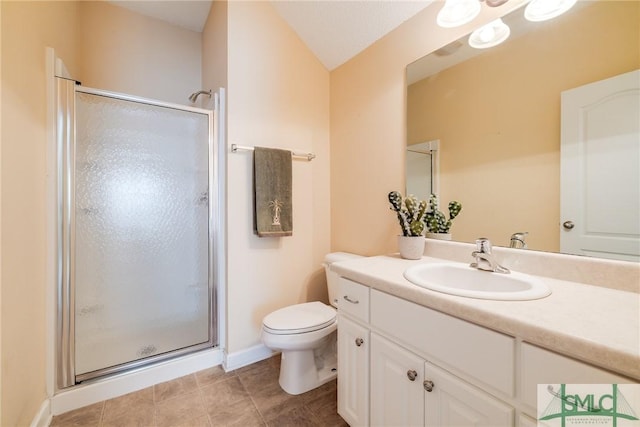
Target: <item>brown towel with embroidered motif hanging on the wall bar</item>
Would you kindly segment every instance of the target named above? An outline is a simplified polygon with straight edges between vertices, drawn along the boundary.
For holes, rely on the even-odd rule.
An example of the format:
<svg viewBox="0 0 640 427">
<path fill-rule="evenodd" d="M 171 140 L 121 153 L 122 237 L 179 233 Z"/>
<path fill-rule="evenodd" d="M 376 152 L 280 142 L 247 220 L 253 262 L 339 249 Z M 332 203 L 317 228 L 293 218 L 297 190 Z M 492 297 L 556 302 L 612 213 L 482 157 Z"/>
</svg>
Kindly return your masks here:
<svg viewBox="0 0 640 427">
<path fill-rule="evenodd" d="M 291 151 L 255 147 L 253 152 L 254 231 L 260 237 L 293 234 Z"/>
</svg>

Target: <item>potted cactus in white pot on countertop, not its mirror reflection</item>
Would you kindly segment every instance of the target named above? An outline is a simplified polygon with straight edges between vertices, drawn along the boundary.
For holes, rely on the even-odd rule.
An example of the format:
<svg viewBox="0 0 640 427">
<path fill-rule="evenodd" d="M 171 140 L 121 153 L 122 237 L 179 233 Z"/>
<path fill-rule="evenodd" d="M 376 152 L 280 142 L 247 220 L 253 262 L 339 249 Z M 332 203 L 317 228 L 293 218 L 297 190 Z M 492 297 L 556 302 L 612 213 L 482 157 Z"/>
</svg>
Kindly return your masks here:
<svg viewBox="0 0 640 427">
<path fill-rule="evenodd" d="M 425 218 L 427 202 L 414 196 L 405 199 L 397 191 L 389 193 L 389 203 L 400 223 L 402 235 L 398 236 L 400 256 L 406 259 L 420 259 L 424 254 Z"/>
</svg>

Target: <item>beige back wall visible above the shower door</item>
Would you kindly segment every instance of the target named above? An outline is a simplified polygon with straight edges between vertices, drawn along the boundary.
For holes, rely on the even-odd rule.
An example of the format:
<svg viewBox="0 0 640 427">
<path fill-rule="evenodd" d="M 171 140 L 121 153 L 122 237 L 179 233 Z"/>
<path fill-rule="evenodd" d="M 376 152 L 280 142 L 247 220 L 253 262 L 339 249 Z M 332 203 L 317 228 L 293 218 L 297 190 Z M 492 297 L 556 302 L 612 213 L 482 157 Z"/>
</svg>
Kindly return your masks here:
<svg viewBox="0 0 640 427">
<path fill-rule="evenodd" d="M 81 1 L 74 78 L 84 86 L 191 105 L 201 89 L 201 34 L 105 1 Z"/>
</svg>

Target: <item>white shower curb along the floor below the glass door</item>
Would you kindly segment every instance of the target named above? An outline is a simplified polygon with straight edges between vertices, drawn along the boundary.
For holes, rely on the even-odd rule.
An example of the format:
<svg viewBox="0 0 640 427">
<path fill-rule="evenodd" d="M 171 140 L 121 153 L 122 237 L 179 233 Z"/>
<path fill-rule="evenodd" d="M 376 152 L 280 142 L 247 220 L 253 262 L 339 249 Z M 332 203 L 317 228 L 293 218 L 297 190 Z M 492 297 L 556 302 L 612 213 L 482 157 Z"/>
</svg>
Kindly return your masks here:
<svg viewBox="0 0 640 427">
<path fill-rule="evenodd" d="M 222 361 L 222 350 L 215 348 L 183 356 L 175 360 L 158 363 L 155 366 L 123 373 L 95 383 L 80 384 L 54 395 L 50 399 L 49 412 L 51 415 L 59 415 L 83 406 L 141 390 L 154 384 L 170 381 L 184 375 L 211 368 L 220 365 Z M 49 405 L 47 404 L 47 406 Z M 44 425 L 46 426 L 48 424 Z M 32 427 L 38 426 L 40 426 L 40 424 L 32 423 Z"/>
</svg>

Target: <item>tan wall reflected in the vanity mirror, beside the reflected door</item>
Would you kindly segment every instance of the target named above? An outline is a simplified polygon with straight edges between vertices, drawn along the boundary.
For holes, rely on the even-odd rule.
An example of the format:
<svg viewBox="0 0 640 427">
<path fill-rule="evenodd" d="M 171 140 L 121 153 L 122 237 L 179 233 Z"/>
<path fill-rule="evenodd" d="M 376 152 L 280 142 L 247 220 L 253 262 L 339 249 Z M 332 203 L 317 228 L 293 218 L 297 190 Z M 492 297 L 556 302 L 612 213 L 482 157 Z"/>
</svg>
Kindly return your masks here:
<svg viewBox="0 0 640 427">
<path fill-rule="evenodd" d="M 439 141 L 441 205 L 463 206 L 454 240 L 527 232 L 529 249 L 560 251 L 561 93 L 640 68 L 638 13 L 581 1 L 533 23 L 519 8 L 505 43 L 463 38 L 407 67 L 407 146 Z"/>
</svg>

